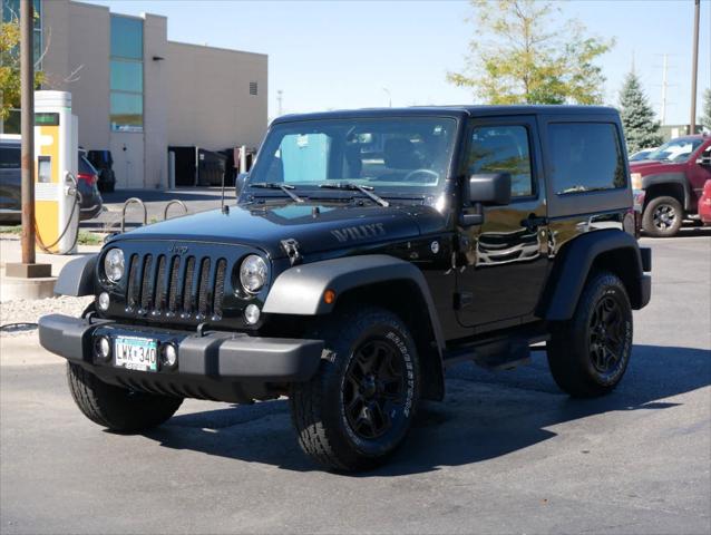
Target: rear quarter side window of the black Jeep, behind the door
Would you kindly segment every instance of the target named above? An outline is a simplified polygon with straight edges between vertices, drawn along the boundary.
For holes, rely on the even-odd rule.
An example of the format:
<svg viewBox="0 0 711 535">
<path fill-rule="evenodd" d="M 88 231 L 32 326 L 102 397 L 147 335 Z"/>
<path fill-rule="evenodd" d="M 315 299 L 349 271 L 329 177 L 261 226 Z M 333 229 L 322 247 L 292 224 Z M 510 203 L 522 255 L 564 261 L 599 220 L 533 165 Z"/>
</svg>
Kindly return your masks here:
<svg viewBox="0 0 711 535">
<path fill-rule="evenodd" d="M 551 181 L 557 195 L 625 187 L 622 149 L 615 125 L 551 123 Z"/>
</svg>

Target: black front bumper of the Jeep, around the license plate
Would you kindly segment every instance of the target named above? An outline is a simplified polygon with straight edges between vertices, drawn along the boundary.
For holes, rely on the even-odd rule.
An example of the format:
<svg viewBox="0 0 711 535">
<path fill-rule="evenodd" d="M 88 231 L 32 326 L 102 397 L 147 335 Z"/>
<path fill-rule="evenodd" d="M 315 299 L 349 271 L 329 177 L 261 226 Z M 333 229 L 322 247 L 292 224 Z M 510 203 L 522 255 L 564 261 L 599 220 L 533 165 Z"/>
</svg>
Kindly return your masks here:
<svg viewBox="0 0 711 535">
<path fill-rule="evenodd" d="M 177 347 L 177 366 L 156 372 L 127 370 L 95 354 L 106 335 L 150 338 Z M 52 353 L 79 364 L 101 380 L 124 388 L 221 401 L 251 401 L 279 396 L 283 386 L 316 372 L 322 340 L 257 338 L 240 333 L 195 332 L 127 325 L 106 320 L 50 314 L 39 320 L 39 341 Z"/>
</svg>

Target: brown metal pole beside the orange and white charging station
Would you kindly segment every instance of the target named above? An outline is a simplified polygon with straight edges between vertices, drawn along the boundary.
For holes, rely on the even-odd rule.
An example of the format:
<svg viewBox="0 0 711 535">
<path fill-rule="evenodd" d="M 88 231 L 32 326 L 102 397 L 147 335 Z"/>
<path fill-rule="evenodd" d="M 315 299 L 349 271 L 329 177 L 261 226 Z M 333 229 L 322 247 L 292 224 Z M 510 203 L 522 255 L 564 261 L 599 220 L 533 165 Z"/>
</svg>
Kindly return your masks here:
<svg viewBox="0 0 711 535">
<path fill-rule="evenodd" d="M 20 0 L 22 263 L 35 263 L 35 6 Z"/>
</svg>

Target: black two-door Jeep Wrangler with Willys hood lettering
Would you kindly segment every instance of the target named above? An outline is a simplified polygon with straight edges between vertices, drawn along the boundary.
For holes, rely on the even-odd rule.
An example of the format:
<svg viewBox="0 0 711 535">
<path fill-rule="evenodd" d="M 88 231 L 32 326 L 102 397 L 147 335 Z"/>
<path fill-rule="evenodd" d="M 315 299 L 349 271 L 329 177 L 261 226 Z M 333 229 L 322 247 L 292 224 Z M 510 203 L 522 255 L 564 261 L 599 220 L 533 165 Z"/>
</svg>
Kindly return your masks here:
<svg viewBox="0 0 711 535">
<path fill-rule="evenodd" d="M 383 461 L 445 368 L 545 343 L 572 396 L 610 392 L 650 300 L 617 113 L 440 107 L 275 120 L 236 205 L 114 236 L 40 320 L 92 421 L 135 432 L 183 398 L 288 396 L 329 468 Z"/>
</svg>

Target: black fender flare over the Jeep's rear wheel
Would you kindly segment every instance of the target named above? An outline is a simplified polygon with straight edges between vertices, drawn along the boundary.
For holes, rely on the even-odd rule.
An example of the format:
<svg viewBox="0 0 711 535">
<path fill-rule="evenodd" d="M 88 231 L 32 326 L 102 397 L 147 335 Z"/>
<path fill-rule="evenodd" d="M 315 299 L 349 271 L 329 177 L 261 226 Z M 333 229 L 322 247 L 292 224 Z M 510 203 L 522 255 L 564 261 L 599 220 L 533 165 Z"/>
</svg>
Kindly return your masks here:
<svg viewBox="0 0 711 535">
<path fill-rule="evenodd" d="M 621 250 L 631 259 L 631 265 L 624 266 L 632 273 L 629 282 L 640 286 L 630 292 L 632 305 L 644 307 L 642 285 L 645 275 L 637 241 L 626 232 L 602 230 L 573 239 L 558 253 L 537 315 L 549 321 L 571 319 L 595 260 L 604 253 Z"/>
</svg>

